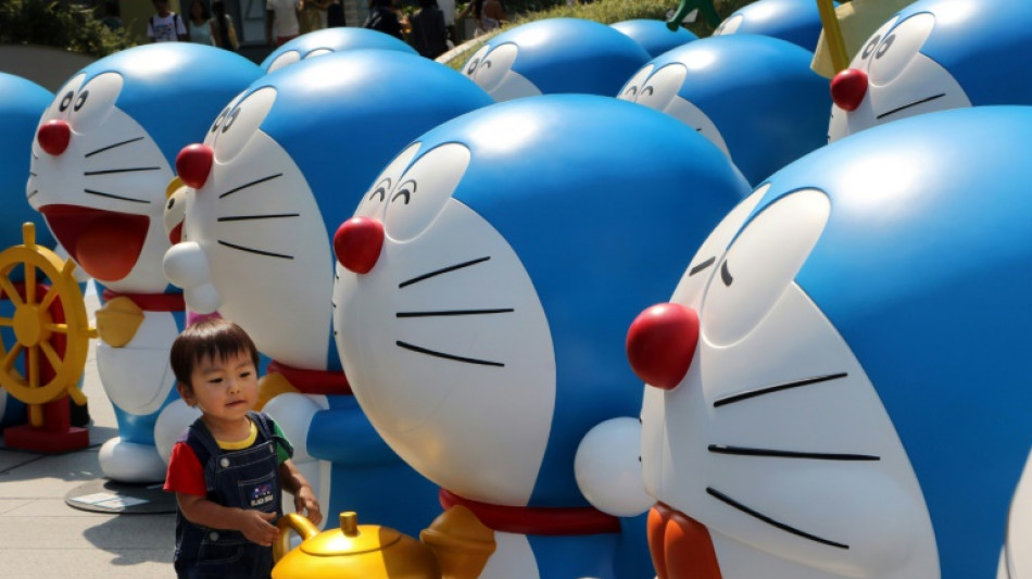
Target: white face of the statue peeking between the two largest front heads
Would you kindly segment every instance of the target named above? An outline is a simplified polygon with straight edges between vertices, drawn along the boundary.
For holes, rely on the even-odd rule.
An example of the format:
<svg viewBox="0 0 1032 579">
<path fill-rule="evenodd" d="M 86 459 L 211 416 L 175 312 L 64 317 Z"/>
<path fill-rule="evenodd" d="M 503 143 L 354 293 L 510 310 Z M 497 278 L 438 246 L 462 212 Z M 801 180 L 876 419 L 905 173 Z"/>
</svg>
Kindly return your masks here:
<svg viewBox="0 0 1032 579">
<path fill-rule="evenodd" d="M 728 143 L 725 142 L 716 123 L 692 101 L 678 95 L 687 77 L 688 67 L 684 64 L 671 63 L 658 70 L 654 64 L 647 64 L 627 81 L 618 98 L 643 104 L 677 118 L 697 130 L 723 151 L 723 154 L 730 156 Z"/>
</svg>

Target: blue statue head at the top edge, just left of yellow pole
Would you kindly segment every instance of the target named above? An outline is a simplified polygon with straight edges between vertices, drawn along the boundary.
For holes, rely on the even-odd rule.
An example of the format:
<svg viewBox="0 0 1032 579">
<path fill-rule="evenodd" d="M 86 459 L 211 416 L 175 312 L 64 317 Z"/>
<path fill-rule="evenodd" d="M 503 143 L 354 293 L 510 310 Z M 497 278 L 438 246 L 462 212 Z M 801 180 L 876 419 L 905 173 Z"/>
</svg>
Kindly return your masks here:
<svg viewBox="0 0 1032 579">
<path fill-rule="evenodd" d="M 713 32 L 714 36 L 731 34 L 772 36 L 814 52 L 820 38 L 820 13 L 815 0 L 756 0 L 735 10 Z"/>
</svg>

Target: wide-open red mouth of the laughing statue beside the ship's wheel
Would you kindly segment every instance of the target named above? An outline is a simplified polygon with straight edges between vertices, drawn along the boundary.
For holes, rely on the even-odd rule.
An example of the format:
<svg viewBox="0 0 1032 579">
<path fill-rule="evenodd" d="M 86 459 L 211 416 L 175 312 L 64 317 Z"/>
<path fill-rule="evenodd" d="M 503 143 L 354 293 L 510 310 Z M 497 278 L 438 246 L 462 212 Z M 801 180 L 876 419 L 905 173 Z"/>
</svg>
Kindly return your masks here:
<svg viewBox="0 0 1032 579">
<path fill-rule="evenodd" d="M 89 275 L 117 281 L 136 265 L 150 218 L 80 205 L 45 205 L 40 213 L 54 237 Z"/>
</svg>

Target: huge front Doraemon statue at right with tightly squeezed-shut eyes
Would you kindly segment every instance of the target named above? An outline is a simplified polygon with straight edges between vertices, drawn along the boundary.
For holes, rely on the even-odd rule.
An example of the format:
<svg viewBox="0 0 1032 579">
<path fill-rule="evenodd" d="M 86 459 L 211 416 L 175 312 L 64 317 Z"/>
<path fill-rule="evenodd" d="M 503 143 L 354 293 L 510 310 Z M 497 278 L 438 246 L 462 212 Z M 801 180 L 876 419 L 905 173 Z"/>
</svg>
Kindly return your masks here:
<svg viewBox="0 0 1032 579">
<path fill-rule="evenodd" d="M 659 577 L 996 577 L 1032 449 L 1030 133 L 974 108 L 815 151 L 635 319 Z"/>
</svg>

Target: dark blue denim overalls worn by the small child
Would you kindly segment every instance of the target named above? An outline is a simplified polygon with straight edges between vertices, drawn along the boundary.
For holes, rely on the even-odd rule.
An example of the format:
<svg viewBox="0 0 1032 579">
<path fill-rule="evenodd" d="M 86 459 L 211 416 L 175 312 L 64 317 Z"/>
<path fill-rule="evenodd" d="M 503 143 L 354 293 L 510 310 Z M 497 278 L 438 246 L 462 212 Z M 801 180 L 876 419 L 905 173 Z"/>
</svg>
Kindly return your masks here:
<svg viewBox="0 0 1032 579">
<path fill-rule="evenodd" d="M 204 467 L 210 501 L 282 516 L 276 446 L 282 445 L 288 453 L 293 449 L 274 433 L 267 416 L 252 412 L 249 417 L 257 427 L 257 438 L 250 448 L 219 449 L 200 418 L 184 439 Z M 248 541 L 239 531 L 194 525 L 177 511 L 175 568 L 180 579 L 267 579 L 273 569 L 273 551 Z"/>
</svg>

